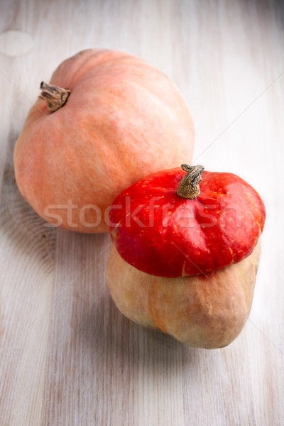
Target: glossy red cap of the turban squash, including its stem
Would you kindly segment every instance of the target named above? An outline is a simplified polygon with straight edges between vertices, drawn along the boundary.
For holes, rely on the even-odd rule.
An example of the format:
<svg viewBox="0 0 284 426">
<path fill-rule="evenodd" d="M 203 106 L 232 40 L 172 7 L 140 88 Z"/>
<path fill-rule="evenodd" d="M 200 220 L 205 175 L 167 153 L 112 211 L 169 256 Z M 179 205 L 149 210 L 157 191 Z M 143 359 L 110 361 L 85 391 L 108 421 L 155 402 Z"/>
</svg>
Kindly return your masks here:
<svg viewBox="0 0 284 426">
<path fill-rule="evenodd" d="M 265 207 L 251 185 L 232 173 L 182 168 L 187 173 L 173 168 L 136 182 L 111 205 L 116 250 L 151 275 L 181 277 L 237 263 L 263 230 Z"/>
</svg>

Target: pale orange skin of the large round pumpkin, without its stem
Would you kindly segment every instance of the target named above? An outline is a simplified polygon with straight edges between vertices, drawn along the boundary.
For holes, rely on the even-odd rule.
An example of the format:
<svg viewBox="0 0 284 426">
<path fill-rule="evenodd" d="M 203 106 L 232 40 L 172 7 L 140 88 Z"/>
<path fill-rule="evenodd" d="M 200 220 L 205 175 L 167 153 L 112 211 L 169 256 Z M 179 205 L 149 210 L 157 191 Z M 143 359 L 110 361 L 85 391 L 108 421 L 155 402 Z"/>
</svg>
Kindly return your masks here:
<svg viewBox="0 0 284 426">
<path fill-rule="evenodd" d="M 18 188 L 46 221 L 72 231 L 108 230 L 114 197 L 143 176 L 192 160 L 192 116 L 173 82 L 128 53 L 84 50 L 50 83 L 64 106 L 31 108 L 14 149 Z"/>
</svg>

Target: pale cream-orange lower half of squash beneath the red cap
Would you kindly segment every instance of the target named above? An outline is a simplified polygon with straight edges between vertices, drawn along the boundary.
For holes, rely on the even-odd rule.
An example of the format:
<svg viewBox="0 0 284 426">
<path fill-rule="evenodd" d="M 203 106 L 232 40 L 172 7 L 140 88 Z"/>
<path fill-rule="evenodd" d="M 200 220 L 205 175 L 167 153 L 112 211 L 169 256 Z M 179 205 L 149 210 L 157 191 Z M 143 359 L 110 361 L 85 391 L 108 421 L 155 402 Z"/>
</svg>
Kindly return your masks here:
<svg viewBox="0 0 284 426">
<path fill-rule="evenodd" d="M 165 278 L 126 263 L 112 249 L 107 283 L 116 307 L 130 320 L 170 334 L 189 346 L 230 344 L 249 317 L 260 242 L 239 263 L 201 275 Z"/>
</svg>

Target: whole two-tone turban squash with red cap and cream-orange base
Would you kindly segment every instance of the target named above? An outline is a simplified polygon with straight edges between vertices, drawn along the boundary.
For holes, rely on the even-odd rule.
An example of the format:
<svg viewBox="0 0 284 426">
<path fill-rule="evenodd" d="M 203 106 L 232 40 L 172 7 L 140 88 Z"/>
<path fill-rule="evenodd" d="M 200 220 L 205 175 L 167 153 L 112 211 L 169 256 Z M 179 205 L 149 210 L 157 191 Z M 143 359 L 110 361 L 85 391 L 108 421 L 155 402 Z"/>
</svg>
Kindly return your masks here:
<svg viewBox="0 0 284 426">
<path fill-rule="evenodd" d="M 239 176 L 182 169 L 143 178 L 114 200 L 107 283 L 131 320 L 219 348 L 249 317 L 266 211 Z"/>
</svg>

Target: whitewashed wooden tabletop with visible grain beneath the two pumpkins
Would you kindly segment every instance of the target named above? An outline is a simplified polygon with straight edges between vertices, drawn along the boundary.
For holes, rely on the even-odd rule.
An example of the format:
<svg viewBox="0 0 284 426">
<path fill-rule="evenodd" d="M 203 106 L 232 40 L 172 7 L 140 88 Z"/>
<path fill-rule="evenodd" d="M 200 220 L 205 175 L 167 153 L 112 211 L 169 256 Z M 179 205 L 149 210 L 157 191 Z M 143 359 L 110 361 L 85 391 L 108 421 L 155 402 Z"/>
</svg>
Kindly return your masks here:
<svg viewBox="0 0 284 426">
<path fill-rule="evenodd" d="M 284 424 L 281 3 L 1 0 L 1 426 Z M 13 145 L 40 81 L 84 48 L 163 70 L 195 118 L 195 163 L 266 203 L 251 316 L 224 349 L 126 320 L 105 283 L 109 236 L 46 228 L 18 193 Z"/>
</svg>

